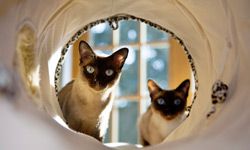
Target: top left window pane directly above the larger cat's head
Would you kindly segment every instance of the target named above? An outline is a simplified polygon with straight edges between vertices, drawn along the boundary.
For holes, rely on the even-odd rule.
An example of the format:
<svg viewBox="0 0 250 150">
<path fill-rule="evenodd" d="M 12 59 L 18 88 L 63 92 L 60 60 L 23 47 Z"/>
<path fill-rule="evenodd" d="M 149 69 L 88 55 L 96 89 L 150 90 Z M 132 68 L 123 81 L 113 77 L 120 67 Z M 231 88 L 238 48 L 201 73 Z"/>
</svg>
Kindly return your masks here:
<svg viewBox="0 0 250 150">
<path fill-rule="evenodd" d="M 95 47 L 112 44 L 112 30 L 107 23 L 101 23 L 91 28 L 90 44 Z"/>
</svg>

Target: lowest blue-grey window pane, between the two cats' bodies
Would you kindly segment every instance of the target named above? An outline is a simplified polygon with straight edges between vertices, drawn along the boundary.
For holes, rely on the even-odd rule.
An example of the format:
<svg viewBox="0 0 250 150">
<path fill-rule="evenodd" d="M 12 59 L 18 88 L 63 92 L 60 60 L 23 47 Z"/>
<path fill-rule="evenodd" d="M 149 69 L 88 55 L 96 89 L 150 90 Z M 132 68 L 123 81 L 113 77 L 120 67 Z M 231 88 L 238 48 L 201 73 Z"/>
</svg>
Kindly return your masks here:
<svg viewBox="0 0 250 150">
<path fill-rule="evenodd" d="M 137 143 L 138 102 L 117 100 L 119 110 L 119 142 Z"/>
</svg>

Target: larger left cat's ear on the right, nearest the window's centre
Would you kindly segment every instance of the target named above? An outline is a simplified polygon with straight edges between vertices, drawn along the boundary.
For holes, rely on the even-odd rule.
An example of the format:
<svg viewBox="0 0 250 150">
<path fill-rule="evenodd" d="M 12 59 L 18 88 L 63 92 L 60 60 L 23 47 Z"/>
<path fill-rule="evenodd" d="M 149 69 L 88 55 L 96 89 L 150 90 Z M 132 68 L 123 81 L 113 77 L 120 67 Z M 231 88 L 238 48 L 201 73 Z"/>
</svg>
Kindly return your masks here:
<svg viewBox="0 0 250 150">
<path fill-rule="evenodd" d="M 127 56 L 128 56 L 127 48 L 121 48 L 112 54 L 114 64 L 118 69 L 121 69 L 123 67 Z"/>
</svg>

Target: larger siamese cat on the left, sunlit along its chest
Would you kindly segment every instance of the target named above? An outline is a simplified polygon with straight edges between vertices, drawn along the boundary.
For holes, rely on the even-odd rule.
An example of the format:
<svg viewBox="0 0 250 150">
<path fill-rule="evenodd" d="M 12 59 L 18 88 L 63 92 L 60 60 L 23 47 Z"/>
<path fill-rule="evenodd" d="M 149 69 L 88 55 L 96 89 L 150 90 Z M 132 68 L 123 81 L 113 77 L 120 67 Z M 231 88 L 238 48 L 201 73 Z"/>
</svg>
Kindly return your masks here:
<svg viewBox="0 0 250 150">
<path fill-rule="evenodd" d="M 108 128 L 113 92 L 128 55 L 121 48 L 108 57 L 97 56 L 84 41 L 79 43 L 80 73 L 58 93 L 68 126 L 99 141 Z"/>
</svg>

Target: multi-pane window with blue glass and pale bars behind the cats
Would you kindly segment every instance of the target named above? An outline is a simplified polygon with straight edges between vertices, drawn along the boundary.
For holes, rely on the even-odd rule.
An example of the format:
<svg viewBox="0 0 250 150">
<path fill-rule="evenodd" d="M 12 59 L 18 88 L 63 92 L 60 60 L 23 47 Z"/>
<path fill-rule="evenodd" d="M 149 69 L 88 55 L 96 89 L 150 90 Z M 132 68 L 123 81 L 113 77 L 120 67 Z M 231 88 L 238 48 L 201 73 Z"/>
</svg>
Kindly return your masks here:
<svg viewBox="0 0 250 150">
<path fill-rule="evenodd" d="M 120 21 L 117 30 L 112 30 L 107 23 L 101 23 L 91 28 L 78 41 L 80 40 L 87 41 L 97 54 L 111 54 L 123 46 L 129 48 L 129 55 L 116 89 L 105 142 L 138 143 L 137 120 L 150 104 L 147 79 L 155 80 L 162 88 L 169 88 L 171 40 L 167 33 L 138 21 Z M 73 48 L 78 49 L 77 42 Z M 77 75 L 77 55 L 78 51 L 74 50 L 72 60 L 76 61 L 73 61 L 73 67 L 69 68 L 72 69 L 72 77 Z M 191 70 L 190 66 L 188 69 Z"/>
</svg>

